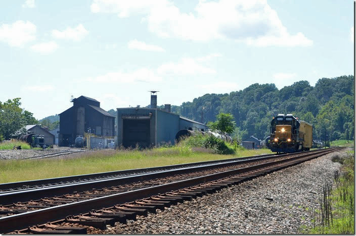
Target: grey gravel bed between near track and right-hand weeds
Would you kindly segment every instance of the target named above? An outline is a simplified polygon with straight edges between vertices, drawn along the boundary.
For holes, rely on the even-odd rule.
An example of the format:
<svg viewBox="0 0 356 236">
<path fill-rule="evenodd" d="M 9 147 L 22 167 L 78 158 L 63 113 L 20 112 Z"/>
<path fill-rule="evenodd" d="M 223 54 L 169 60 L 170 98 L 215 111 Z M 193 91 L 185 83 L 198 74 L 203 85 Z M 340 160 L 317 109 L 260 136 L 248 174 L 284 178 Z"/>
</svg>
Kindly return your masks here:
<svg viewBox="0 0 356 236">
<path fill-rule="evenodd" d="M 345 153 L 344 151 L 342 152 Z M 191 202 L 116 223 L 91 233 L 301 233 L 313 226 L 323 181 L 333 181 L 340 164 L 333 153 L 260 178 L 222 189 Z M 273 200 L 269 200 L 273 199 Z"/>
</svg>

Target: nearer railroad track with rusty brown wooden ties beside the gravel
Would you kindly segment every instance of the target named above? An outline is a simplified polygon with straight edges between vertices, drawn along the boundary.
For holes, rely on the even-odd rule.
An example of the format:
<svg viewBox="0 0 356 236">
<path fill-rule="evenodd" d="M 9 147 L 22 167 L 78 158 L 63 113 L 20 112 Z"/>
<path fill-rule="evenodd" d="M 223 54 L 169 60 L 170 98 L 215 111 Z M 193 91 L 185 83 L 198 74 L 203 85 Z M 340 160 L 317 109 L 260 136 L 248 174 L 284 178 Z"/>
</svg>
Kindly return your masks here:
<svg viewBox="0 0 356 236">
<path fill-rule="evenodd" d="M 2 233 L 84 233 L 87 226 L 105 228 L 107 224 L 136 219 L 136 215 L 155 212 L 157 208 L 164 210 L 164 207 L 176 202 L 190 200 L 336 150 L 294 153 L 283 158 L 279 156 L 235 165 L 220 163 L 215 164 L 215 168 L 200 166 L 143 174 L 135 176 L 137 180 L 134 182 L 116 186 L 109 183 L 110 187 L 101 181 L 101 185 L 97 184 L 100 189 L 0 206 L 0 214 L 3 214 L 0 229 Z M 77 187 L 79 185 L 83 184 L 77 184 Z M 9 193 L 7 197 L 16 194 Z M 30 194 L 28 191 L 27 196 Z M 18 229 L 20 231 L 14 231 Z"/>
</svg>

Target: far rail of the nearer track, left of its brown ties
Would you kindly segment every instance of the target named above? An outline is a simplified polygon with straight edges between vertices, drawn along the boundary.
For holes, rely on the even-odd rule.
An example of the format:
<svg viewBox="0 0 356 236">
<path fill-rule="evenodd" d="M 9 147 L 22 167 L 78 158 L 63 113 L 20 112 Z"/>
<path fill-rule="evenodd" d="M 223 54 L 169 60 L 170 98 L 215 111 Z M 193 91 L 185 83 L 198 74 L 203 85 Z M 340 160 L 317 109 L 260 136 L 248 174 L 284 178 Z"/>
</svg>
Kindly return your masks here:
<svg viewBox="0 0 356 236">
<path fill-rule="evenodd" d="M 314 151 L 314 152 L 308 152 L 308 153 L 305 153 L 305 152 L 294 153 L 294 155 L 308 155 L 310 153 L 323 153 L 323 152 L 325 152 L 325 149 Z M 280 157 L 283 157 L 283 155 L 258 158 L 257 160 L 280 158 Z M 207 169 L 213 169 L 213 168 L 218 168 L 218 167 L 230 166 L 232 164 L 249 163 L 249 162 L 254 162 L 257 160 L 256 159 L 245 159 L 245 160 L 238 159 L 238 160 L 230 161 L 230 162 L 212 163 L 212 164 L 205 164 L 205 165 L 192 166 L 192 167 L 186 167 L 186 168 L 182 167 L 182 168 L 177 168 L 177 169 L 169 169 L 169 170 L 163 170 L 163 171 L 157 171 L 157 172 L 151 172 L 151 173 L 129 175 L 129 176 L 123 176 L 123 177 L 118 177 L 118 178 L 96 180 L 96 181 L 91 181 L 91 182 L 74 183 L 74 184 L 68 184 L 68 185 L 63 185 L 63 186 L 54 186 L 54 187 L 48 187 L 48 188 L 24 190 L 24 191 L 17 191 L 17 192 L 11 192 L 11 193 L 2 193 L 2 194 L 0 194 L 0 204 L 8 205 L 8 204 L 16 203 L 16 202 L 26 202 L 26 201 L 30 201 L 33 199 L 41 199 L 44 197 L 49 198 L 49 197 L 65 195 L 65 194 L 69 194 L 69 193 L 73 193 L 73 192 L 87 191 L 87 190 L 91 190 L 93 188 L 96 188 L 96 189 L 110 188 L 112 186 L 117 186 L 117 185 L 131 184 L 131 183 L 135 183 L 135 182 L 148 181 L 148 180 L 153 180 L 153 179 L 157 179 L 157 178 L 165 178 L 165 177 L 171 176 L 173 174 L 185 174 L 185 173 L 191 173 L 191 172 L 196 172 L 196 171 L 200 171 L 200 170 L 207 170 Z"/>
</svg>

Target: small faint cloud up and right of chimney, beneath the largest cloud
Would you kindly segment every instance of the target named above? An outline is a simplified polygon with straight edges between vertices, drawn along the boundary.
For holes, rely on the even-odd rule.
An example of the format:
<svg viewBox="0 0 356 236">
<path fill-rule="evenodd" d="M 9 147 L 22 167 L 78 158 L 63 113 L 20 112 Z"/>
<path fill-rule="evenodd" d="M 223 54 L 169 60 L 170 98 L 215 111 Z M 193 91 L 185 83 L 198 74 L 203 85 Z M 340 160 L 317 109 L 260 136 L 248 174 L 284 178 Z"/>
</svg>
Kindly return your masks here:
<svg viewBox="0 0 356 236">
<path fill-rule="evenodd" d="M 183 58 L 179 63 L 166 63 L 157 68 L 158 74 L 197 75 L 214 74 L 214 69 L 198 63 L 194 58 Z"/>
</svg>

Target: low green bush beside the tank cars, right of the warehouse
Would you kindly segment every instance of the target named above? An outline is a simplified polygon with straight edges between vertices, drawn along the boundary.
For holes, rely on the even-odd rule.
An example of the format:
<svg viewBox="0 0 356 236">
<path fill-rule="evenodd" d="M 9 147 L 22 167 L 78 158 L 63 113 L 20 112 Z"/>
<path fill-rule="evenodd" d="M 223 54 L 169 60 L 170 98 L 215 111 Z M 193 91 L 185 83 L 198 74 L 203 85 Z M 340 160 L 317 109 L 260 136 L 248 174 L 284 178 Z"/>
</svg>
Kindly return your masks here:
<svg viewBox="0 0 356 236">
<path fill-rule="evenodd" d="M 214 136 L 190 136 L 186 138 L 182 145 L 193 147 L 200 147 L 211 149 L 214 153 L 218 154 L 233 154 L 235 153 L 234 149 L 228 146 L 224 140 L 216 138 Z"/>
</svg>

